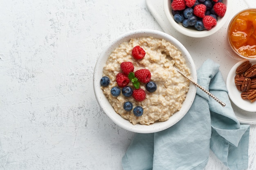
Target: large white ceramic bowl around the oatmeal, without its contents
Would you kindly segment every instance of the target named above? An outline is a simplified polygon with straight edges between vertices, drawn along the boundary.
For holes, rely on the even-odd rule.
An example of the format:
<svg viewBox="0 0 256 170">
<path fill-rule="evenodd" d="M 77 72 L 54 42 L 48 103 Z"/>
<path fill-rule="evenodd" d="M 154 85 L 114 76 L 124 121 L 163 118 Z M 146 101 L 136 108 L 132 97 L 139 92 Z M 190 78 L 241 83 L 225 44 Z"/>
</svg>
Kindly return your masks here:
<svg viewBox="0 0 256 170">
<path fill-rule="evenodd" d="M 103 94 L 103 91 L 101 90 L 100 80 L 101 80 L 101 77 L 103 76 L 102 75 L 103 66 L 106 63 L 108 56 L 111 54 L 111 52 L 115 48 L 117 48 L 117 46 L 119 46 L 119 44 L 125 41 L 129 41 L 131 38 L 147 37 L 147 36 L 166 39 L 170 41 L 174 46 L 176 46 L 178 50 L 182 52 L 182 55 L 186 59 L 186 63 L 191 70 L 191 77 L 193 78 L 193 80 L 197 81 L 196 68 L 195 68 L 193 59 L 191 58 L 191 55 L 186 50 L 186 48 L 179 41 L 177 41 L 177 39 L 173 38 L 171 35 L 168 35 L 160 31 L 155 31 L 155 30 L 137 30 L 137 31 L 131 31 L 129 33 L 125 33 L 124 35 L 119 36 L 111 44 L 109 44 L 109 46 L 102 51 L 94 68 L 94 75 L 93 75 L 94 94 L 97 98 L 97 101 L 100 107 L 115 124 L 117 124 L 118 126 L 128 131 L 137 132 L 137 133 L 154 133 L 154 132 L 167 129 L 173 126 L 174 124 L 176 124 L 179 120 L 183 118 L 183 116 L 187 113 L 187 111 L 191 107 L 193 100 L 195 98 L 195 93 L 196 93 L 195 85 L 190 83 L 189 92 L 186 95 L 186 99 L 182 103 L 182 108 L 180 109 L 180 111 L 177 111 L 175 114 L 173 114 L 173 116 L 171 116 L 169 120 L 166 120 L 165 122 L 155 122 L 150 125 L 141 125 L 141 124 L 133 125 L 128 120 L 125 120 L 115 112 L 113 107 L 108 102 L 108 99 Z"/>
</svg>

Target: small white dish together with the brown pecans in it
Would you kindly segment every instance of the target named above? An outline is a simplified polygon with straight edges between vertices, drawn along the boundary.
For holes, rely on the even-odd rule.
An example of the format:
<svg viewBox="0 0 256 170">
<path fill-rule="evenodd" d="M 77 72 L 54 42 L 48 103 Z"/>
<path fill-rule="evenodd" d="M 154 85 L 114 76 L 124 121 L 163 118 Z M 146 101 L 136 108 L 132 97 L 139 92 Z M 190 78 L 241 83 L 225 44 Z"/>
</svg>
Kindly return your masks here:
<svg viewBox="0 0 256 170">
<path fill-rule="evenodd" d="M 256 123 L 256 61 L 245 59 L 236 63 L 227 76 L 227 89 L 231 102 L 247 111 L 236 115 L 238 119 Z"/>
</svg>

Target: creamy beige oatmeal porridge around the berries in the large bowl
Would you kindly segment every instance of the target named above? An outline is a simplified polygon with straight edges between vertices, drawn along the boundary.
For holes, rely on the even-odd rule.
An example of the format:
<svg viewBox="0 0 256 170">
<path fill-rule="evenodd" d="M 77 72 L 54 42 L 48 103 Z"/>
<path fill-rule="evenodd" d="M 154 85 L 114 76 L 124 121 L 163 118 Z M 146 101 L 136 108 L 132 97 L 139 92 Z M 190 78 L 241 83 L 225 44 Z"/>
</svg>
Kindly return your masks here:
<svg viewBox="0 0 256 170">
<path fill-rule="evenodd" d="M 140 46 L 146 52 L 143 59 L 132 57 L 132 49 L 135 46 Z M 143 101 L 137 101 L 132 96 L 126 97 L 122 94 L 115 97 L 110 92 L 112 87 L 118 86 L 116 76 L 122 72 L 120 64 L 125 61 L 133 63 L 134 72 L 139 69 L 148 69 L 151 74 L 150 81 L 157 85 L 154 92 L 148 92 L 145 84 L 140 84 L 140 88 L 146 92 L 146 98 Z M 103 76 L 110 79 L 110 84 L 101 89 L 115 111 L 132 124 L 149 125 L 156 121 L 166 121 L 181 109 L 190 83 L 173 68 L 174 64 L 187 76 L 190 75 L 184 57 L 171 42 L 154 37 L 132 38 L 130 41 L 120 44 L 110 54 L 103 68 Z M 131 81 L 128 86 L 134 88 Z M 122 87 L 120 89 L 122 90 Z M 133 108 L 141 106 L 144 110 L 142 116 L 135 116 L 132 111 L 124 110 L 125 102 L 131 102 Z"/>
</svg>

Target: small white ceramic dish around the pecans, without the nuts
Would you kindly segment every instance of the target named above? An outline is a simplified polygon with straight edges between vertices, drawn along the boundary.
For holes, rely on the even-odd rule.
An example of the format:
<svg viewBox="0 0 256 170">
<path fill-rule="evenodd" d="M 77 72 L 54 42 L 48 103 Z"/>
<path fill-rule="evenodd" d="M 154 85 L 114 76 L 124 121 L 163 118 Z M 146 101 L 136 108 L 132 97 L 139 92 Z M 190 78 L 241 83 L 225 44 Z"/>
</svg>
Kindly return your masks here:
<svg viewBox="0 0 256 170">
<path fill-rule="evenodd" d="M 256 102 L 250 102 L 249 100 L 244 100 L 241 98 L 241 92 L 236 88 L 235 84 L 235 76 L 236 76 L 236 68 L 242 64 L 243 62 L 247 61 L 247 59 L 240 60 L 236 63 L 230 70 L 227 76 L 227 89 L 229 91 L 229 98 L 231 101 L 240 109 L 245 111 L 256 111 Z M 256 64 L 255 60 L 249 60 L 252 65 Z"/>
</svg>

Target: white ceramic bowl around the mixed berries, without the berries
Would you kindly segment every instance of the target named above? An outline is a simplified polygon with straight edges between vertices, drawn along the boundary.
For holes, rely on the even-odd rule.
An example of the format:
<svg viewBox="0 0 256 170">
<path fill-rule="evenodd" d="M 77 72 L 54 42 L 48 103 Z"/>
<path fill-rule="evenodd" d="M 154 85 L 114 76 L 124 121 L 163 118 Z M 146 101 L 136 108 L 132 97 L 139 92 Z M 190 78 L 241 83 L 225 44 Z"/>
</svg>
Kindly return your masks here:
<svg viewBox="0 0 256 170">
<path fill-rule="evenodd" d="M 232 3 L 234 2 L 228 3 L 228 0 L 223 0 L 223 3 L 227 6 L 227 11 L 223 17 L 219 17 L 216 26 L 214 26 L 210 30 L 197 31 L 193 28 L 185 28 L 184 26 L 182 26 L 182 23 L 175 22 L 171 12 L 171 0 L 163 0 L 164 13 L 168 21 L 170 22 L 171 26 L 173 26 L 173 28 L 175 28 L 175 30 L 177 30 L 178 32 L 186 36 L 195 38 L 207 37 L 209 35 L 212 35 L 216 33 L 220 28 L 222 28 L 222 26 L 227 22 L 229 15 L 231 13 Z"/>
</svg>

